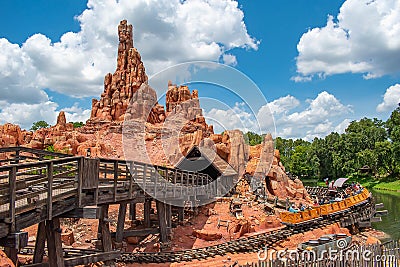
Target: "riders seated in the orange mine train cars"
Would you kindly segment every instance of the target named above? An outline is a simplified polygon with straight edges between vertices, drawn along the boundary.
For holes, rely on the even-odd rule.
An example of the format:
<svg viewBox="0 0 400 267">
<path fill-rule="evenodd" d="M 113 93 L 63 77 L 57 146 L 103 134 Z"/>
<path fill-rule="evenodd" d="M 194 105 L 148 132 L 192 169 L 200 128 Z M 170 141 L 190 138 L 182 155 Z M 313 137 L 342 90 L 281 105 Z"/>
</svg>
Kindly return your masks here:
<svg viewBox="0 0 400 267">
<path fill-rule="evenodd" d="M 327 183 L 327 184 L 329 184 L 329 183 Z M 332 204 L 334 202 L 340 202 L 348 197 L 360 194 L 363 191 L 363 189 L 364 188 L 360 183 L 352 182 L 351 184 L 347 185 L 345 187 L 345 189 L 341 190 L 340 192 L 336 191 L 336 194 L 333 196 L 325 196 L 325 197 L 321 197 L 319 199 L 318 199 L 318 196 L 316 196 L 314 198 L 313 206 L 318 207 L 318 206 L 321 206 L 324 204 Z M 296 204 L 293 203 L 288 208 L 288 211 L 296 213 L 296 212 L 300 212 L 300 211 L 305 211 L 307 209 L 312 209 L 312 207 L 309 206 L 308 204 L 304 205 L 303 203 L 300 203 L 299 206 L 296 207 Z"/>
</svg>

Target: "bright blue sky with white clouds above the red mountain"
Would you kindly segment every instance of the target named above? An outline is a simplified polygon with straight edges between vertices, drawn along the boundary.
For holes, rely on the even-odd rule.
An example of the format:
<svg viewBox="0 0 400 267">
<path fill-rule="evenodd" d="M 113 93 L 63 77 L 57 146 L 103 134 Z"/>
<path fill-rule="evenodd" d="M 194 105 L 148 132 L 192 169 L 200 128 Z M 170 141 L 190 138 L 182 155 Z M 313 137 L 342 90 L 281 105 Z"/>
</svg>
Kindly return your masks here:
<svg viewBox="0 0 400 267">
<path fill-rule="evenodd" d="M 217 132 L 275 131 L 273 117 L 277 136 L 312 140 L 386 120 L 400 102 L 398 0 L 4 0 L 0 124 L 54 124 L 61 110 L 86 121 L 115 70 L 123 19 L 160 97 L 166 68 L 228 65 L 225 75 L 213 64 L 187 69 L 183 80 Z"/>
</svg>

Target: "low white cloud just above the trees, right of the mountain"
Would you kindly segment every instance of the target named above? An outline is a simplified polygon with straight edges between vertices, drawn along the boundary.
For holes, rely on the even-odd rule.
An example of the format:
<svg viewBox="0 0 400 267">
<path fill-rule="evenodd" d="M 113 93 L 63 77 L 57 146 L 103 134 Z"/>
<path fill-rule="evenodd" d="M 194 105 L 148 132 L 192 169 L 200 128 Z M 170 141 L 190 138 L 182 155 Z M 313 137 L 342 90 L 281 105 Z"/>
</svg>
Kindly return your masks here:
<svg viewBox="0 0 400 267">
<path fill-rule="evenodd" d="M 274 133 L 276 126 L 277 136 L 306 140 L 331 132 L 343 133 L 350 123 L 345 117 L 352 112 L 351 107 L 328 92 L 323 91 L 303 104 L 304 108 L 300 100 L 287 95 L 262 106 L 256 114 L 246 109 L 244 103 L 236 103 L 231 109 L 213 108 L 205 114 L 207 122 L 217 126 L 216 132 L 227 128 Z"/>
</svg>

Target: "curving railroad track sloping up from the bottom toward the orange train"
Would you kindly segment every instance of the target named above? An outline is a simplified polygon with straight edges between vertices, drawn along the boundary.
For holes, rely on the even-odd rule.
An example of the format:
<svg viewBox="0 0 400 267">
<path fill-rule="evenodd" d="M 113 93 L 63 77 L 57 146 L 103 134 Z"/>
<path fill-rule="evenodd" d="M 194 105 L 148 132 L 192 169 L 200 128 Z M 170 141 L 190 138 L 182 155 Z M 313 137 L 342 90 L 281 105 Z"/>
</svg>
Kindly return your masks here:
<svg viewBox="0 0 400 267">
<path fill-rule="evenodd" d="M 215 256 L 222 256 L 227 253 L 250 253 L 258 252 L 260 249 L 272 247 L 280 241 L 284 241 L 291 235 L 307 232 L 317 228 L 322 228 L 327 225 L 337 223 L 343 216 L 351 214 L 359 214 L 368 210 L 371 202 L 367 202 L 362 206 L 355 207 L 354 209 L 347 210 L 336 214 L 335 216 L 327 217 L 322 220 L 314 221 L 298 227 L 286 226 L 283 229 L 262 233 L 254 236 L 239 238 L 231 240 L 222 244 L 208 246 L 204 248 L 195 248 L 182 251 L 170 252 L 135 252 L 135 253 L 122 253 L 121 257 L 117 259 L 118 262 L 124 263 L 173 263 L 182 261 L 204 260 L 213 258 Z"/>
</svg>

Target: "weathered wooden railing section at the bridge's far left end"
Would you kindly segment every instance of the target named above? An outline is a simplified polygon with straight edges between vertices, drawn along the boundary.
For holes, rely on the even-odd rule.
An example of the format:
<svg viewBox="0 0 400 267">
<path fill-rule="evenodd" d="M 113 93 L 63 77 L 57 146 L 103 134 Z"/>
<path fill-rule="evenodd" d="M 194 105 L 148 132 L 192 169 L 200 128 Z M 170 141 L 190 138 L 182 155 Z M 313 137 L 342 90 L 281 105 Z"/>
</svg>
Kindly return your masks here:
<svg viewBox="0 0 400 267">
<path fill-rule="evenodd" d="M 45 160 L 0 167 L 0 218 L 15 223 L 19 214 L 46 206 L 47 219 L 52 204 L 77 195 L 81 157 Z"/>
</svg>

